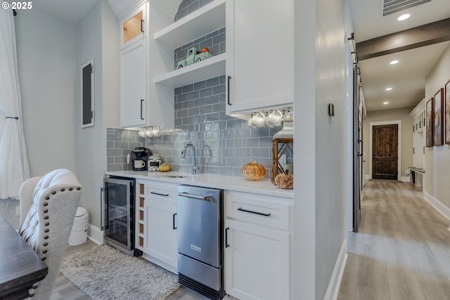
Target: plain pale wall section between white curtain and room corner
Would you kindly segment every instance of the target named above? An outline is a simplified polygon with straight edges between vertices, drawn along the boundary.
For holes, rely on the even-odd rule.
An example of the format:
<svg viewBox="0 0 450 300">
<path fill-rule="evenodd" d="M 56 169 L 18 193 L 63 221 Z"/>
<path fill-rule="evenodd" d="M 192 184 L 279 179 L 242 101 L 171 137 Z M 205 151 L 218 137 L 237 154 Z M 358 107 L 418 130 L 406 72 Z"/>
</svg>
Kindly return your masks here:
<svg viewBox="0 0 450 300">
<path fill-rule="evenodd" d="M 39 5 L 14 18 L 23 124 L 31 176 L 67 168 L 75 172 L 75 25 Z"/>
</svg>

